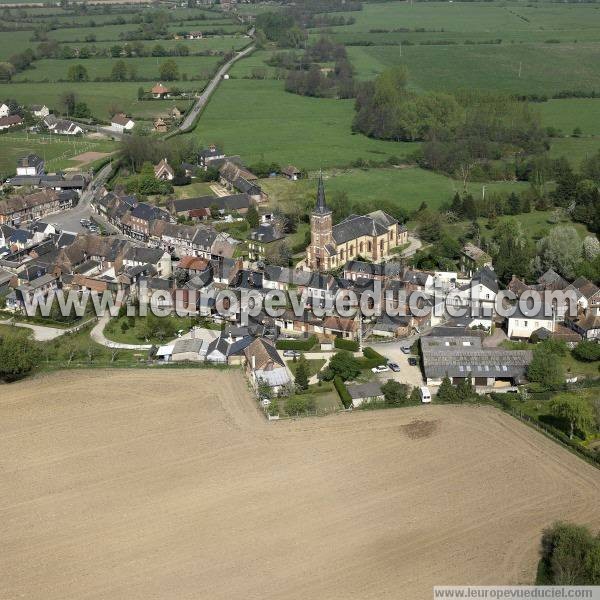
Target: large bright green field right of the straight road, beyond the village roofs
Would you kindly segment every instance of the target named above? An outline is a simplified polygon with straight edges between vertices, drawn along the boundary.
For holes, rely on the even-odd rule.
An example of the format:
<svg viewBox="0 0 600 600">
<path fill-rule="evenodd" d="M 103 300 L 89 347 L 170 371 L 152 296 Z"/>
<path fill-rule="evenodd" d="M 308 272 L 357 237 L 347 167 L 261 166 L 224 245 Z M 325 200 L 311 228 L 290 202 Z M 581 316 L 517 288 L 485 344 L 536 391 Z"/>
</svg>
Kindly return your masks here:
<svg viewBox="0 0 600 600">
<path fill-rule="evenodd" d="M 414 148 L 353 135 L 353 117 L 353 100 L 289 94 L 282 81 L 232 79 L 218 88 L 189 135 L 222 145 L 249 164 L 264 159 L 306 169 L 346 166 L 357 158 L 384 161 Z"/>
</svg>

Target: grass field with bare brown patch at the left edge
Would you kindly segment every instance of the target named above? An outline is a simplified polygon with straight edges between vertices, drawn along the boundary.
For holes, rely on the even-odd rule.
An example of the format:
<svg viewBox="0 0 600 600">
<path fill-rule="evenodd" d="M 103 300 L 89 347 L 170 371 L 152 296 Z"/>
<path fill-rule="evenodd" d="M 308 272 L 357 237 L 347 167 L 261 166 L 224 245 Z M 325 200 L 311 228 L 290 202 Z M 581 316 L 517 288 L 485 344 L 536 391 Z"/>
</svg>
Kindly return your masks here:
<svg viewBox="0 0 600 600">
<path fill-rule="evenodd" d="M 117 144 L 108 140 L 89 138 L 67 139 L 47 135 L 7 132 L 0 135 L 0 173 L 14 174 L 18 158 L 33 152 L 46 160 L 48 172 L 77 167 L 82 163 L 71 160 L 84 152 L 112 152 Z M 89 165 L 88 165 L 89 166 Z"/>
</svg>

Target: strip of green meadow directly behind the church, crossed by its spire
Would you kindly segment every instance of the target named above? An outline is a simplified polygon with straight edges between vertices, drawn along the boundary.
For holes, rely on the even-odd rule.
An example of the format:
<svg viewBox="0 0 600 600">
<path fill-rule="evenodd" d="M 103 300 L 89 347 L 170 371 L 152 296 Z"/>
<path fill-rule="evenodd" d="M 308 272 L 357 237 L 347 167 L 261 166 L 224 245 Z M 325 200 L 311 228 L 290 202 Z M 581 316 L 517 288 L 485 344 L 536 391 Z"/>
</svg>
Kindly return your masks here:
<svg viewBox="0 0 600 600">
<path fill-rule="evenodd" d="M 397 202 L 408 211 L 417 209 L 422 202 L 427 202 L 431 208 L 437 208 L 451 200 L 457 190 L 462 189 L 459 182 L 420 168 L 347 169 L 328 171 L 324 176 L 326 193 L 343 191 L 351 201 L 364 200 L 374 208 L 378 200 Z M 301 203 L 310 207 L 314 204 L 317 189 L 314 177 L 299 181 L 277 177 L 265 179 L 261 185 L 274 205 Z M 473 194 L 481 194 L 481 185 L 470 184 L 469 189 Z M 525 187 L 522 183 L 504 182 L 485 186 L 486 193 L 506 194 Z"/>
</svg>

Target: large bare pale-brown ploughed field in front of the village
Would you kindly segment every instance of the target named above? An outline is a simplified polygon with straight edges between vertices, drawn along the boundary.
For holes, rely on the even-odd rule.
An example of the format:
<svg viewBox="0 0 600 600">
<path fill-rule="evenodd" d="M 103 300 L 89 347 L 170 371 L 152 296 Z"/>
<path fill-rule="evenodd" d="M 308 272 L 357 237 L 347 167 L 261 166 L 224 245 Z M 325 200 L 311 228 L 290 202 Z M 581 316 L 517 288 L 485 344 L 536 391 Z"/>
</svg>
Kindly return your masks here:
<svg viewBox="0 0 600 600">
<path fill-rule="evenodd" d="M 267 423 L 239 372 L 0 387 L 0 598 L 419 599 L 531 583 L 600 473 L 490 408 Z"/>
</svg>

